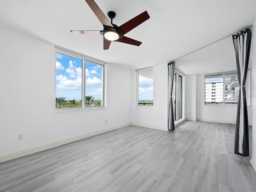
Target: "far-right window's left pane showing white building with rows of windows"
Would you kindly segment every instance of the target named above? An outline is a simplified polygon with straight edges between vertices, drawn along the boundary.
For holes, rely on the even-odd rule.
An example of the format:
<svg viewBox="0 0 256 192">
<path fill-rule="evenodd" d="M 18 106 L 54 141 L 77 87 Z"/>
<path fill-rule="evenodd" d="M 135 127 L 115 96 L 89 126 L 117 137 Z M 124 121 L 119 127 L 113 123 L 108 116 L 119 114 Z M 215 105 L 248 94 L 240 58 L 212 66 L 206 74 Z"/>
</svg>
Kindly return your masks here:
<svg viewBox="0 0 256 192">
<path fill-rule="evenodd" d="M 223 75 L 205 77 L 205 103 L 223 103 Z"/>
</svg>

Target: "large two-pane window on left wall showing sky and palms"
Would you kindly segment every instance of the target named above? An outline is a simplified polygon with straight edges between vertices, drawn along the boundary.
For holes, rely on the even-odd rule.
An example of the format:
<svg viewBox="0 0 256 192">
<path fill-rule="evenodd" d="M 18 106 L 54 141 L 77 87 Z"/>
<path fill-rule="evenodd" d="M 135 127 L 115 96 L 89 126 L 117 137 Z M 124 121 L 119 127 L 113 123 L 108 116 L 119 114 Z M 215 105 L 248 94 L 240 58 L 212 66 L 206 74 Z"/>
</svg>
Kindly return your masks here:
<svg viewBox="0 0 256 192">
<path fill-rule="evenodd" d="M 104 63 L 56 48 L 56 109 L 104 106 Z"/>
</svg>

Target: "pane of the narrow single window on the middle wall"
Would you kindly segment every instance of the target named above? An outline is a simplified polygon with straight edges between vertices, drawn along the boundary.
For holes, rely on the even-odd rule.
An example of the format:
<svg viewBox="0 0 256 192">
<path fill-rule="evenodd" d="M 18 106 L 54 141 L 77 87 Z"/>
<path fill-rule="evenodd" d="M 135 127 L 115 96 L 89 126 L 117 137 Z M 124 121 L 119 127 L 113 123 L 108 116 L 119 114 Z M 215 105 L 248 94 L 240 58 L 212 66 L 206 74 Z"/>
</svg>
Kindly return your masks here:
<svg viewBox="0 0 256 192">
<path fill-rule="evenodd" d="M 138 105 L 153 105 L 153 70 L 138 72 Z"/>
</svg>

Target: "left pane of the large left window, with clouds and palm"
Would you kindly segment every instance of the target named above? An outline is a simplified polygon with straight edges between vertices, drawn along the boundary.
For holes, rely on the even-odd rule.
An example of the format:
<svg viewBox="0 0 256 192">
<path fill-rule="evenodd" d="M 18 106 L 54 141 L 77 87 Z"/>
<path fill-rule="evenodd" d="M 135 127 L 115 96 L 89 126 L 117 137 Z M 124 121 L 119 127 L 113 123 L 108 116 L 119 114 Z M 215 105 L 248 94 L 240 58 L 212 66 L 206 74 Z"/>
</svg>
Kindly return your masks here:
<svg viewBox="0 0 256 192">
<path fill-rule="evenodd" d="M 82 60 L 56 52 L 56 108 L 82 107 Z"/>
</svg>

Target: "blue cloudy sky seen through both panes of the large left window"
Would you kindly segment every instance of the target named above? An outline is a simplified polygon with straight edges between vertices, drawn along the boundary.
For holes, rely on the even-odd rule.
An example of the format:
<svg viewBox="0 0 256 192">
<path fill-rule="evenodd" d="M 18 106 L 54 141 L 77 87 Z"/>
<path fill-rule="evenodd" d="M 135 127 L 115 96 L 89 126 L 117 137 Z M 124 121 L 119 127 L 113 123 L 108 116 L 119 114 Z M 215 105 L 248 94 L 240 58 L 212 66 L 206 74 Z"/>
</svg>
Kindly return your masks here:
<svg viewBox="0 0 256 192">
<path fill-rule="evenodd" d="M 86 96 L 102 100 L 102 66 L 86 61 Z M 56 97 L 82 100 L 82 60 L 56 53 Z"/>
</svg>

